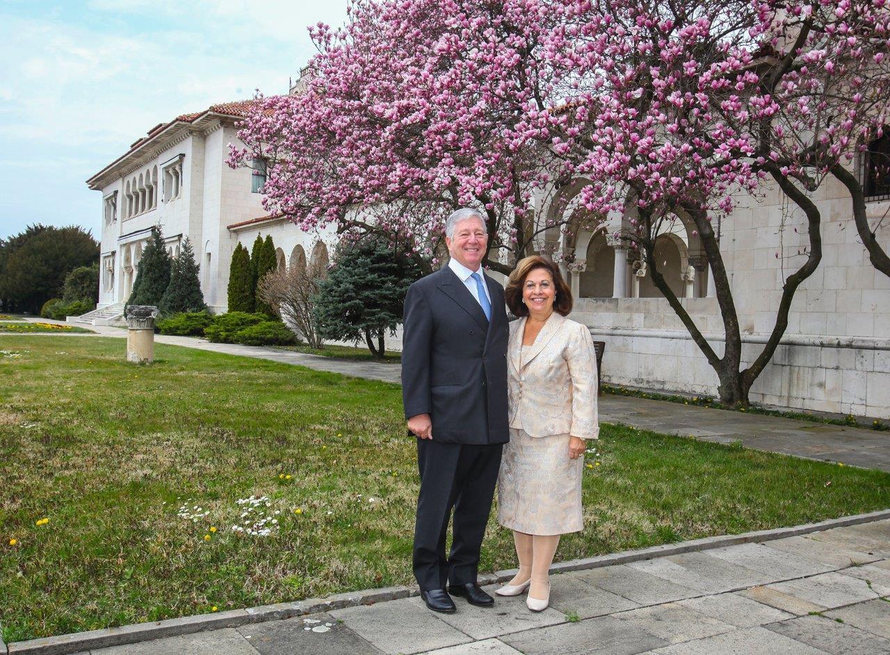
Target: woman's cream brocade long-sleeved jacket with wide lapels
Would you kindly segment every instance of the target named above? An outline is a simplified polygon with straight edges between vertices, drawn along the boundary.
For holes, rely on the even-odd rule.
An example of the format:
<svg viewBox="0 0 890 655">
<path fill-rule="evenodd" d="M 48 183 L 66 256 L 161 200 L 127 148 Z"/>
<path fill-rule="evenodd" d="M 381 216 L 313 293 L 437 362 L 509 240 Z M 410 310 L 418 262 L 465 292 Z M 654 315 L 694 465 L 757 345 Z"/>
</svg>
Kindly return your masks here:
<svg viewBox="0 0 890 655">
<path fill-rule="evenodd" d="M 534 437 L 569 434 L 598 439 L 596 355 L 590 331 L 554 312 L 522 358 L 525 321 L 520 318 L 510 324 L 510 427 Z"/>
</svg>

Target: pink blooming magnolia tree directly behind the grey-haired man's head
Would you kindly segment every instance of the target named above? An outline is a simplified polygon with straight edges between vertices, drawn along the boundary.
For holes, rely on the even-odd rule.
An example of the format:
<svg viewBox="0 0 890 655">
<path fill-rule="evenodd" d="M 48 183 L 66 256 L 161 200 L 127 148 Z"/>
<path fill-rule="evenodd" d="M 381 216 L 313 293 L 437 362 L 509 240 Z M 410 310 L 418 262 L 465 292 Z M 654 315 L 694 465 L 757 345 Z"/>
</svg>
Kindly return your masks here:
<svg viewBox="0 0 890 655">
<path fill-rule="evenodd" d="M 478 207 L 491 236 L 484 263 L 509 273 L 561 224 L 539 212 L 561 180 L 525 115 L 550 102 L 538 37 L 559 6 L 356 0 L 345 28 L 312 30 L 312 78 L 260 103 L 231 164 L 269 162 L 267 208 L 301 228 L 383 232 L 427 270 L 445 217 Z"/>
</svg>

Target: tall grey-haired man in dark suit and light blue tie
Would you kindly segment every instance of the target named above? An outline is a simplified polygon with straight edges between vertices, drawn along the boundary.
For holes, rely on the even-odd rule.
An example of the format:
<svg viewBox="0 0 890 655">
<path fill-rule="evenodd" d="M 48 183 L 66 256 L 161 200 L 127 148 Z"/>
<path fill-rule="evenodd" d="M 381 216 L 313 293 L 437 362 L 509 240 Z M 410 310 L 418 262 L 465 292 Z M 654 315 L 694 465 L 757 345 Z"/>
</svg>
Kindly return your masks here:
<svg viewBox="0 0 890 655">
<path fill-rule="evenodd" d="M 494 604 L 476 575 L 501 450 L 510 438 L 509 328 L 504 288 L 481 268 L 488 244 L 481 214 L 454 212 L 445 235 L 449 265 L 412 284 L 405 298 L 401 384 L 420 468 L 414 575 L 427 607 L 452 612 L 450 595 Z"/>
</svg>

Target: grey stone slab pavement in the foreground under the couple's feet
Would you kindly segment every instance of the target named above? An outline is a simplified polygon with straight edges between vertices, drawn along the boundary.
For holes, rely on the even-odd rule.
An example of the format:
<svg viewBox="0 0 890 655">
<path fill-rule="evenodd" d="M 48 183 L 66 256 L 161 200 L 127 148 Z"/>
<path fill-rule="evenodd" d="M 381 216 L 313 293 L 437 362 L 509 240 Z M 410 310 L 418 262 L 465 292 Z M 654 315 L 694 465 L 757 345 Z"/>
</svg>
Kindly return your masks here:
<svg viewBox="0 0 890 655">
<path fill-rule="evenodd" d="M 890 520 L 554 575 L 540 613 L 524 596 L 456 603 L 442 615 L 403 598 L 90 653 L 890 655 Z"/>
</svg>

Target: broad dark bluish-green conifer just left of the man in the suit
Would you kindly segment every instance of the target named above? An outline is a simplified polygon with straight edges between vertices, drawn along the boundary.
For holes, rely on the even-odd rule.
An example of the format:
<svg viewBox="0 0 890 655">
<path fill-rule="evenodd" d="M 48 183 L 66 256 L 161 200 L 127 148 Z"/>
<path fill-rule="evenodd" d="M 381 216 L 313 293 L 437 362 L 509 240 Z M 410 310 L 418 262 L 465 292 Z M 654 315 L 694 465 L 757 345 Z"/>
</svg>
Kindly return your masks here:
<svg viewBox="0 0 890 655">
<path fill-rule="evenodd" d="M 383 357 L 384 331 L 401 323 L 405 294 L 420 276 L 417 265 L 383 238 L 341 245 L 313 299 L 320 336 L 364 338 L 371 353 Z"/>
</svg>

